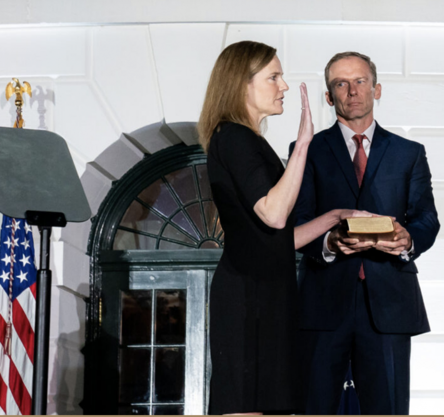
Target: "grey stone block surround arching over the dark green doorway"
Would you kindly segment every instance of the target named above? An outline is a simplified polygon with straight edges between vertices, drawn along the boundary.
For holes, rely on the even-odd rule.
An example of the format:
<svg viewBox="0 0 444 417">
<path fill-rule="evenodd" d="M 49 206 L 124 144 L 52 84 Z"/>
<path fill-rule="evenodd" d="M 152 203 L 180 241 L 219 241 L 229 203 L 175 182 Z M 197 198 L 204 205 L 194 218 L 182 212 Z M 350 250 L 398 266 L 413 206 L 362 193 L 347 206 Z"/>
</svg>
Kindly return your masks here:
<svg viewBox="0 0 444 417">
<path fill-rule="evenodd" d="M 113 181 L 141 161 L 145 154 L 180 143 L 198 143 L 195 122 L 166 123 L 164 120 L 137 129 L 120 138 L 105 149 L 93 162 L 86 164 L 80 181 L 92 211 L 97 215 L 101 203 L 111 190 Z M 69 288 L 81 298 L 89 297 L 90 257 L 88 239 L 92 221 L 68 223 L 62 229 L 63 287 Z"/>
</svg>

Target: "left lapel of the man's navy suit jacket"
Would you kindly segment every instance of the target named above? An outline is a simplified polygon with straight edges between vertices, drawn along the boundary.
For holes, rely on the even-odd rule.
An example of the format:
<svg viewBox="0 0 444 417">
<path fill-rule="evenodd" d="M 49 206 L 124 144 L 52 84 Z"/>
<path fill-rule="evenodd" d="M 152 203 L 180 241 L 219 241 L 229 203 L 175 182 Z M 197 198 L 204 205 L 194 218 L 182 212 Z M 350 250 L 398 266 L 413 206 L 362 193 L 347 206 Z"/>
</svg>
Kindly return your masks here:
<svg viewBox="0 0 444 417">
<path fill-rule="evenodd" d="M 353 167 L 350 153 L 348 152 L 347 145 L 345 144 L 344 137 L 342 136 L 342 132 L 339 129 L 337 121 L 330 129 L 327 130 L 325 140 L 330 146 L 339 167 L 341 168 L 348 184 L 350 185 L 350 188 L 353 191 L 353 194 L 358 197 L 359 185 L 358 180 L 356 179 L 355 168 Z"/>
</svg>

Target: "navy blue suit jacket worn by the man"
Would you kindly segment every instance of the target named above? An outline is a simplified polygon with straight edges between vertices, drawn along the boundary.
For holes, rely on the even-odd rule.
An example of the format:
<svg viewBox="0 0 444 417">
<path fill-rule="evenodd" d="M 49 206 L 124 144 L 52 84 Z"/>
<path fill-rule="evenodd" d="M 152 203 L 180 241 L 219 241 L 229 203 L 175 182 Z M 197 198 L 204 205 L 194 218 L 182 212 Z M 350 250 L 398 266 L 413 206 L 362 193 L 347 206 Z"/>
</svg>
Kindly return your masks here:
<svg viewBox="0 0 444 417">
<path fill-rule="evenodd" d="M 290 145 L 290 154 L 295 142 Z M 332 263 L 322 256 L 325 235 L 299 249 L 301 323 L 304 329 L 334 330 L 352 302 L 364 263 L 370 310 L 382 333 L 419 334 L 430 330 L 413 262 L 432 246 L 440 224 L 432 195 L 424 146 L 376 124 L 361 188 L 336 122 L 316 134 L 295 207 L 303 224 L 335 208 L 368 210 L 395 216 L 414 242 L 408 262 L 376 249 L 339 254 Z"/>
</svg>

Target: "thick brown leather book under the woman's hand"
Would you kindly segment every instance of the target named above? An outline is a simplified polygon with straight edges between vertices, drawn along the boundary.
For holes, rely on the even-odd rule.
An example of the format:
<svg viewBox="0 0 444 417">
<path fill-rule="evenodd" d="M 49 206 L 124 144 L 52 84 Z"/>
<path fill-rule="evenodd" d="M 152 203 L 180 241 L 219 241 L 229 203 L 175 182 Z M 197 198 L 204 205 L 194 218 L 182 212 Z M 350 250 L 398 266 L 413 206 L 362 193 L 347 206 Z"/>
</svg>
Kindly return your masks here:
<svg viewBox="0 0 444 417">
<path fill-rule="evenodd" d="M 352 217 L 347 219 L 348 235 L 361 242 L 391 241 L 395 236 L 395 225 L 388 216 Z"/>
</svg>

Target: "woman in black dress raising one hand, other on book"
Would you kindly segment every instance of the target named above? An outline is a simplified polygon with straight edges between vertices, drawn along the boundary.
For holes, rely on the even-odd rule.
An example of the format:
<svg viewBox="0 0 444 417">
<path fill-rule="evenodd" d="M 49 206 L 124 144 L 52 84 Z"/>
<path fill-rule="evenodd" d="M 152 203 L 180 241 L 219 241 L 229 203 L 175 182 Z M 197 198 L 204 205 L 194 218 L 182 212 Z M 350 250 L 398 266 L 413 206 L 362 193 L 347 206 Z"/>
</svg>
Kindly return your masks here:
<svg viewBox="0 0 444 417">
<path fill-rule="evenodd" d="M 358 212 L 333 210 L 293 227 L 313 124 L 305 84 L 295 150 L 287 168 L 260 136 L 265 117 L 283 112 L 276 50 L 243 41 L 213 69 L 198 131 L 225 233 L 210 292 L 211 414 L 297 410 L 295 247 Z M 362 212 L 359 212 L 361 215 Z"/>
</svg>

